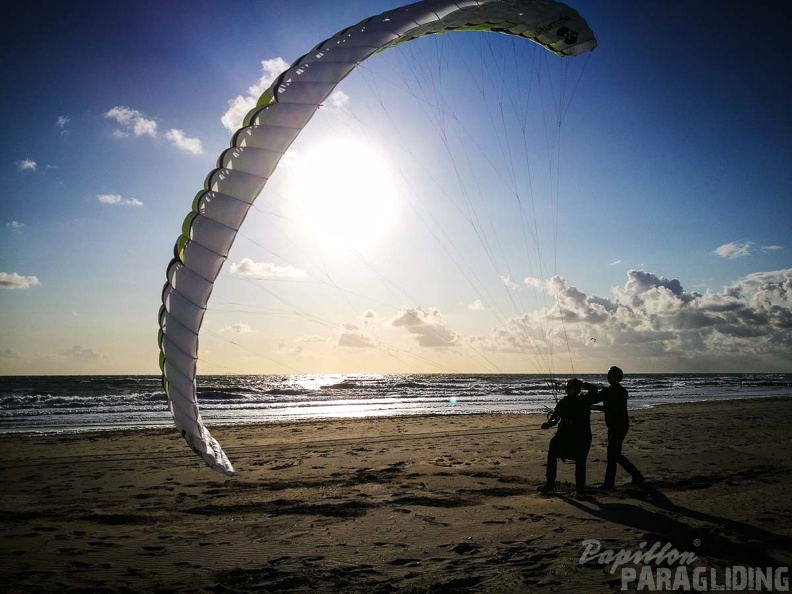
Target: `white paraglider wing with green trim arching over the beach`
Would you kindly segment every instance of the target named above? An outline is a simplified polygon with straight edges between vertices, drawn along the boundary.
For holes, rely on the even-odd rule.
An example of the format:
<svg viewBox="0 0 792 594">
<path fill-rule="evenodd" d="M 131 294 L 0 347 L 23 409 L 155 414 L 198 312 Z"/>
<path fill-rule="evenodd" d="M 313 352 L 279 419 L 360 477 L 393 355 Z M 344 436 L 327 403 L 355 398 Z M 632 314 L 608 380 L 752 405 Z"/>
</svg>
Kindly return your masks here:
<svg viewBox="0 0 792 594">
<path fill-rule="evenodd" d="M 361 21 L 317 45 L 281 74 L 218 158 L 184 220 L 159 313 L 160 368 L 168 405 L 190 447 L 211 468 L 233 466 L 198 410 L 198 332 L 237 230 L 283 154 L 321 103 L 369 56 L 450 31 L 524 37 L 559 56 L 596 47 L 585 21 L 550 0 L 426 0 Z"/>
</svg>

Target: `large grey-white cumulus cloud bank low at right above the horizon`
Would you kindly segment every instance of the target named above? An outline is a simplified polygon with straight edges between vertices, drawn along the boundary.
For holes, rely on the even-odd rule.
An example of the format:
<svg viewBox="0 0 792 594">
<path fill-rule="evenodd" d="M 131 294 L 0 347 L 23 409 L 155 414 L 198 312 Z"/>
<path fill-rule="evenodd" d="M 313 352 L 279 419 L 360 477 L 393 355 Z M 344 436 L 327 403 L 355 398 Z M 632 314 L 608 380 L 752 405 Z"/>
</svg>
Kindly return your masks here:
<svg viewBox="0 0 792 594">
<path fill-rule="evenodd" d="M 677 370 L 720 365 L 721 371 L 740 371 L 729 369 L 730 362 L 743 368 L 774 361 L 781 368 L 792 354 L 792 269 L 754 273 L 717 294 L 688 292 L 677 279 L 643 270 L 629 271 L 624 286 L 607 298 L 587 295 L 560 277 L 548 281 L 547 290 L 555 304 L 514 326 L 549 329 L 546 340 L 557 345 L 596 338 L 611 358 L 636 366 L 651 361 L 644 368 L 665 362 Z M 512 348 L 524 336 L 507 334 Z"/>
</svg>

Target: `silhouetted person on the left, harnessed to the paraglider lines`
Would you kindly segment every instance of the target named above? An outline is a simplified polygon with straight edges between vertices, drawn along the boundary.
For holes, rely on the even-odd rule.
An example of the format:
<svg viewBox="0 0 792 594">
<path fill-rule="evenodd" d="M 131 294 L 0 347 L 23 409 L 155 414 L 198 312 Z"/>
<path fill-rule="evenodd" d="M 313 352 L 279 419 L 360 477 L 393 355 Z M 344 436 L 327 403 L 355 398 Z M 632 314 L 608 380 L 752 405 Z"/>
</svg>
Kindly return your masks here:
<svg viewBox="0 0 792 594">
<path fill-rule="evenodd" d="M 585 492 L 586 459 L 591 448 L 591 398 L 597 389 L 591 386 L 593 391 L 583 396 L 582 388 L 583 382 L 579 379 L 567 380 L 566 396 L 556 404 L 547 422 L 542 423 L 542 429 L 558 423 L 558 430 L 547 449 L 547 483 L 539 489 L 543 493 L 555 489 L 559 458 L 574 460 L 575 490 L 580 495 Z"/>
</svg>

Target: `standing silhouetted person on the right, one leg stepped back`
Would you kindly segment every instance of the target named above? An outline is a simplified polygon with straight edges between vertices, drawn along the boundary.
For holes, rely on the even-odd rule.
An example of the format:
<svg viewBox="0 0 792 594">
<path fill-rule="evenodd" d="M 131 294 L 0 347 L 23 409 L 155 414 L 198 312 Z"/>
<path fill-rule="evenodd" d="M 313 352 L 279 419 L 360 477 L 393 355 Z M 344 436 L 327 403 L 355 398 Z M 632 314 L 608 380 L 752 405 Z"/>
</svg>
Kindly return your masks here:
<svg viewBox="0 0 792 594">
<path fill-rule="evenodd" d="M 622 444 L 627 432 L 630 430 L 630 417 L 627 414 L 627 390 L 621 385 L 624 372 L 618 367 L 611 367 L 608 370 L 607 388 L 603 388 L 593 396 L 592 403 L 602 402 L 602 406 L 594 408 L 605 412 L 605 425 L 608 427 L 608 465 L 605 469 L 605 480 L 602 483 L 603 489 L 613 489 L 616 486 L 616 467 L 621 466 L 630 473 L 633 484 L 640 485 L 645 481 L 643 475 L 622 454 Z M 584 384 L 588 387 L 589 384 Z M 594 388 L 596 390 L 596 388 Z"/>
</svg>

